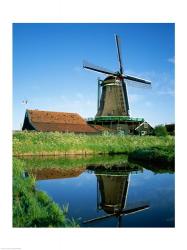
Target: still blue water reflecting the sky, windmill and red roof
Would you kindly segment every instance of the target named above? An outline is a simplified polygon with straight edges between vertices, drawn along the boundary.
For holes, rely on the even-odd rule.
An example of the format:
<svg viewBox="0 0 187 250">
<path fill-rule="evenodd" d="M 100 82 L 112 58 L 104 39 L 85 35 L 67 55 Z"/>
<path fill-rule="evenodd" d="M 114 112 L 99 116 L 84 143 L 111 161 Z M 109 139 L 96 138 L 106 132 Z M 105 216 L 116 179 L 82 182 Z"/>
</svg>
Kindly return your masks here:
<svg viewBox="0 0 187 250">
<path fill-rule="evenodd" d="M 175 226 L 174 172 L 103 166 L 85 164 L 61 174 L 43 168 L 35 173 L 36 188 L 61 208 L 68 205 L 68 217 L 81 227 Z"/>
</svg>

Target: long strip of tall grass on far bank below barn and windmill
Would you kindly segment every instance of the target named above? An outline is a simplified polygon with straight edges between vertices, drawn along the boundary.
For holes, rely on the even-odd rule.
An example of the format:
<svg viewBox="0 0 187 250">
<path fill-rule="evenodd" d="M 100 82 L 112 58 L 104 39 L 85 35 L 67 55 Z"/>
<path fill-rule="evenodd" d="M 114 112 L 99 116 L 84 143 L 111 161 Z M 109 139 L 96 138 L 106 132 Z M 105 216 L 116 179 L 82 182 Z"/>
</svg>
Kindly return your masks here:
<svg viewBox="0 0 187 250">
<path fill-rule="evenodd" d="M 174 146 L 174 137 L 75 135 L 58 132 L 19 132 L 13 135 L 13 154 L 129 154 L 145 148 Z"/>
</svg>

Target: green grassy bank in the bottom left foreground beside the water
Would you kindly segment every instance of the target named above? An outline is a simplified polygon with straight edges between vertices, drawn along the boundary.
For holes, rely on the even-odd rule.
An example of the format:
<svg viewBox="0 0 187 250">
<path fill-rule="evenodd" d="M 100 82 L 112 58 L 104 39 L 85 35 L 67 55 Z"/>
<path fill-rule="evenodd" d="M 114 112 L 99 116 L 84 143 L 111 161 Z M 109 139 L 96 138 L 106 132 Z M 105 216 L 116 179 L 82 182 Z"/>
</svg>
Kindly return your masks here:
<svg viewBox="0 0 187 250">
<path fill-rule="evenodd" d="M 13 226 L 75 227 L 66 211 L 62 211 L 45 193 L 35 190 L 35 179 L 24 178 L 24 163 L 13 161 Z"/>
</svg>

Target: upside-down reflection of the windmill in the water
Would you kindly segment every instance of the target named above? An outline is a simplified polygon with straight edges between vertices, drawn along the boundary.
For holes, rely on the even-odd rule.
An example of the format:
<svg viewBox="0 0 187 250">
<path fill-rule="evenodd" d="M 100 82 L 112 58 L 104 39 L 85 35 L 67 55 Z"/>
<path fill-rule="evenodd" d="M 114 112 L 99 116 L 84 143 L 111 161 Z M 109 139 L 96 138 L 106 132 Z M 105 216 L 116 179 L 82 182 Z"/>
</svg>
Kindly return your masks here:
<svg viewBox="0 0 187 250">
<path fill-rule="evenodd" d="M 138 174 L 141 170 L 95 170 L 97 177 L 97 209 L 104 210 L 106 215 L 89 219 L 83 222 L 88 224 L 99 220 L 116 217 L 117 226 L 122 223 L 122 216 L 133 214 L 148 209 L 145 202 L 127 208 L 127 196 L 130 183 L 130 175 Z"/>
</svg>

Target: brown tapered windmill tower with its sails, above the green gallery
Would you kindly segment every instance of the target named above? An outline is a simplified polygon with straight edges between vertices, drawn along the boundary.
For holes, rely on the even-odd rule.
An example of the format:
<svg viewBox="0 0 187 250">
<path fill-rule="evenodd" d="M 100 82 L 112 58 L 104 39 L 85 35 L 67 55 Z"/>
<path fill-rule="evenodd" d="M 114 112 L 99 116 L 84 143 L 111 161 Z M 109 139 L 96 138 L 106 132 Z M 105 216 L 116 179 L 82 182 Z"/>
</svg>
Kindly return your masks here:
<svg viewBox="0 0 187 250">
<path fill-rule="evenodd" d="M 147 86 L 151 84 L 151 82 L 148 80 L 130 76 L 124 73 L 122 54 L 120 49 L 120 39 L 117 35 L 115 35 L 115 42 L 119 63 L 118 71 L 110 71 L 88 62 L 83 63 L 83 68 L 107 75 L 107 77 L 103 81 L 98 81 L 98 93 L 100 93 L 99 88 L 102 88 L 102 93 L 101 97 L 98 94 L 98 110 L 96 117 L 129 117 L 129 101 L 127 95 L 126 80 L 141 83 Z"/>
</svg>

